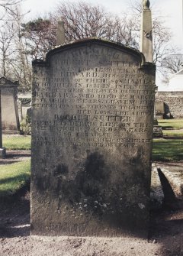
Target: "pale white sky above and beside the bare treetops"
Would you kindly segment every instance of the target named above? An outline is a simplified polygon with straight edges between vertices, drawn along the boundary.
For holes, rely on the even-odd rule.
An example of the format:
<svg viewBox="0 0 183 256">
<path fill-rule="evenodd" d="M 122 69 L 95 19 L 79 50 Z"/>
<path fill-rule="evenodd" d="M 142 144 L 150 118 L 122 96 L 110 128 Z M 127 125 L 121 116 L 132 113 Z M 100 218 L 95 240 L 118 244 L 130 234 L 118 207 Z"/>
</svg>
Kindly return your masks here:
<svg viewBox="0 0 183 256">
<path fill-rule="evenodd" d="M 79 0 L 70 0 L 70 2 L 78 2 Z M 120 15 L 129 9 L 130 2 L 134 0 L 82 0 L 94 5 L 102 5 L 107 11 Z M 53 11 L 59 0 L 24 0 L 22 11 L 30 11 L 25 17 L 27 20 L 37 18 L 45 12 Z M 172 44 L 175 44 L 183 53 L 183 0 L 150 0 L 153 11 L 159 11 L 159 15 L 165 17 L 165 25 L 172 31 Z M 159 77 L 156 76 L 157 86 L 161 86 Z M 160 87 L 161 89 L 161 87 Z"/>
</svg>

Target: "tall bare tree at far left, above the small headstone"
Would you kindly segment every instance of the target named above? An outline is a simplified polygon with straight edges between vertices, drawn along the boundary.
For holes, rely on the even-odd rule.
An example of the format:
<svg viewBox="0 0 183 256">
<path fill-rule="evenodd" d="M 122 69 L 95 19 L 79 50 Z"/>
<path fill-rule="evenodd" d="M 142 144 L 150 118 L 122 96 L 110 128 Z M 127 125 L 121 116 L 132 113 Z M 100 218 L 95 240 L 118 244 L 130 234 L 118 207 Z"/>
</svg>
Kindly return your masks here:
<svg viewBox="0 0 183 256">
<path fill-rule="evenodd" d="M 1 21 L 0 28 L 0 74 L 12 80 L 18 80 L 19 89 L 30 89 L 31 60 L 27 56 L 26 41 L 21 37 L 21 14 L 19 5 L 11 6 L 11 14 L 7 13 Z"/>
</svg>

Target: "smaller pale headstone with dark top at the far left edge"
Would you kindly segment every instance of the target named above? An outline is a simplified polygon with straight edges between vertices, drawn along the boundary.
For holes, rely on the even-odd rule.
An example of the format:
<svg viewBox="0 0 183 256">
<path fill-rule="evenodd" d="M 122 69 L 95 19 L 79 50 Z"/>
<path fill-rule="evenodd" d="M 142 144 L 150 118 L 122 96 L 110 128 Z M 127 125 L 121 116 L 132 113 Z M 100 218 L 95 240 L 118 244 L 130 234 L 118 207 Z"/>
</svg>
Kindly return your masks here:
<svg viewBox="0 0 183 256">
<path fill-rule="evenodd" d="M 12 82 L 2 76 L 0 78 L 0 89 L 2 92 L 2 131 L 4 133 L 18 133 L 18 82 Z"/>
</svg>

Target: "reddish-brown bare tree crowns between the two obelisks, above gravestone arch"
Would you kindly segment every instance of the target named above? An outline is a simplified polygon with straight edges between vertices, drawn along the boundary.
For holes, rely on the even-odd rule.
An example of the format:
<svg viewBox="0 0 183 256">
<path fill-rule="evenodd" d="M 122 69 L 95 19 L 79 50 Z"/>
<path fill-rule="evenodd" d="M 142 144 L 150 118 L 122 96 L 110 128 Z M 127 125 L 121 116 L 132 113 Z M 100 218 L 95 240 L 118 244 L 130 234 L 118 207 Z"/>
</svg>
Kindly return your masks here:
<svg viewBox="0 0 183 256">
<path fill-rule="evenodd" d="M 61 2 L 56 11 L 50 14 L 50 20 L 55 24 L 62 18 L 65 23 L 66 42 L 87 37 L 99 37 L 117 41 L 129 47 L 139 47 L 136 41 L 140 28 L 136 17 L 128 15 L 113 15 L 100 5 L 86 2 Z"/>
</svg>

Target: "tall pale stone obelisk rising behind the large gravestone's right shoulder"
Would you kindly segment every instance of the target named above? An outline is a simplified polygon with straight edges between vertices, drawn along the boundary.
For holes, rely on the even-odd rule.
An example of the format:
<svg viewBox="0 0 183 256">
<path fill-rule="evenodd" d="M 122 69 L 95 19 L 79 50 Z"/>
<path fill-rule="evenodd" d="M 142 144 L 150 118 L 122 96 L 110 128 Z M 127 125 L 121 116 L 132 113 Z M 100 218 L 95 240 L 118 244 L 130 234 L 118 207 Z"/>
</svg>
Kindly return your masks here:
<svg viewBox="0 0 183 256">
<path fill-rule="evenodd" d="M 143 0 L 140 51 L 144 54 L 146 62 L 152 63 L 152 16 L 149 6 L 149 0 Z"/>
</svg>

